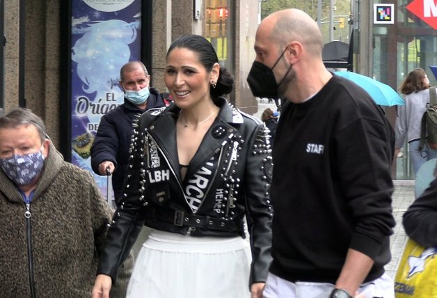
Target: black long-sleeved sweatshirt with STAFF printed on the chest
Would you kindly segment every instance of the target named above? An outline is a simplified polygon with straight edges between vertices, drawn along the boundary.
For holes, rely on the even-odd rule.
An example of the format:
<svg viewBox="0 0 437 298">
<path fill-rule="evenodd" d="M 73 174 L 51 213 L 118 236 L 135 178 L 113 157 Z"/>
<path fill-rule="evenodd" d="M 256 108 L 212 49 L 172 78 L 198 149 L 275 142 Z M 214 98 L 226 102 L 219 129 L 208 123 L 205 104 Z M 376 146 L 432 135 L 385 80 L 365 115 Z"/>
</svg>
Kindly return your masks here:
<svg viewBox="0 0 437 298">
<path fill-rule="evenodd" d="M 335 283 L 349 248 L 390 261 L 390 127 L 370 95 L 337 76 L 309 100 L 287 102 L 273 143 L 270 272 Z"/>
</svg>

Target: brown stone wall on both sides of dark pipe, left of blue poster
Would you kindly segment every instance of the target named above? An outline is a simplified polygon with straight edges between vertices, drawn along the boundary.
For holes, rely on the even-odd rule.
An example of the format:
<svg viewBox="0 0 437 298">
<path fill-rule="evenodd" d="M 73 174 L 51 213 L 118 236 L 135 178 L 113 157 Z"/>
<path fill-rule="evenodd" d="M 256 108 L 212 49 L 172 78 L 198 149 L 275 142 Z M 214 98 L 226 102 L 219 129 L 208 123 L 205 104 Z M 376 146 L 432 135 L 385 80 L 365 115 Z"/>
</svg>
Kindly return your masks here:
<svg viewBox="0 0 437 298">
<path fill-rule="evenodd" d="M 5 110 L 19 106 L 19 54 L 24 51 L 26 107 L 45 120 L 47 132 L 58 143 L 59 123 L 59 3 L 27 0 L 24 45 L 19 45 L 19 1 L 5 1 Z"/>
</svg>

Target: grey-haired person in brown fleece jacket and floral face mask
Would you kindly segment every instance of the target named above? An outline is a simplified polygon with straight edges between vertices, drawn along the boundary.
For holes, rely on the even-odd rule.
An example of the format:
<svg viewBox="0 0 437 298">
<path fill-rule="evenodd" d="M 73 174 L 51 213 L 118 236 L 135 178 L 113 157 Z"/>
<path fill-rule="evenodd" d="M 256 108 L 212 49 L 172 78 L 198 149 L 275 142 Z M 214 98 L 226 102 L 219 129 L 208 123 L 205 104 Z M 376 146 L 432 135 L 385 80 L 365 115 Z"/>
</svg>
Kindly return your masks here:
<svg viewBox="0 0 437 298">
<path fill-rule="evenodd" d="M 63 160 L 28 109 L 0 117 L 1 297 L 91 295 L 111 210 L 94 179 Z M 133 259 L 111 297 L 125 297 Z"/>
</svg>

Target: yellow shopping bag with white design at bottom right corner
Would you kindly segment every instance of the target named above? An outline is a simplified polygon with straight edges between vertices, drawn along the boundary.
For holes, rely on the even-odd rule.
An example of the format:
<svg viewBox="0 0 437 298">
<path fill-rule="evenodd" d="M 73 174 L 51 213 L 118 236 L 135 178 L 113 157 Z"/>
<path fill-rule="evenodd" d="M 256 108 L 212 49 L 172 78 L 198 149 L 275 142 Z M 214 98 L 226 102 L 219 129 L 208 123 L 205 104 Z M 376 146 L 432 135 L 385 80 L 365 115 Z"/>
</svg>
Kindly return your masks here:
<svg viewBox="0 0 437 298">
<path fill-rule="evenodd" d="M 395 277 L 396 298 L 437 298 L 437 246 L 408 239 Z"/>
</svg>

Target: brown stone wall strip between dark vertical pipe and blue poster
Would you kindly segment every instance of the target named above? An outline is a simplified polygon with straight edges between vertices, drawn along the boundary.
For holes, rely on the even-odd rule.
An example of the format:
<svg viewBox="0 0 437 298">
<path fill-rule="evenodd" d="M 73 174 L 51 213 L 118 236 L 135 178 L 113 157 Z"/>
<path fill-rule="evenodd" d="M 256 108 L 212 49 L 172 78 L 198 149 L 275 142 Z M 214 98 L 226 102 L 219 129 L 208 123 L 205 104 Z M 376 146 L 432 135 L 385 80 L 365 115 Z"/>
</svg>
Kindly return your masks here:
<svg viewBox="0 0 437 298">
<path fill-rule="evenodd" d="M 47 132 L 58 143 L 60 6 L 56 0 L 26 0 L 24 45 L 26 107 L 45 120 Z"/>
</svg>

